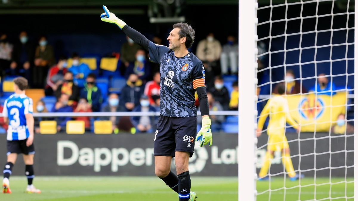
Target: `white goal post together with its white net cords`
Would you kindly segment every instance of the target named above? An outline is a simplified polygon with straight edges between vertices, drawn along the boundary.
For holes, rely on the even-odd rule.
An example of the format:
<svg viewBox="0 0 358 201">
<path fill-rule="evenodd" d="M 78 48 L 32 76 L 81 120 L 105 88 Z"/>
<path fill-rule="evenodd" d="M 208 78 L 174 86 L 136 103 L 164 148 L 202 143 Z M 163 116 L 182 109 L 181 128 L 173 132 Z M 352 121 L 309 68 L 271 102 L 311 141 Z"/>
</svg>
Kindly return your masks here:
<svg viewBox="0 0 358 201">
<path fill-rule="evenodd" d="M 343 10 L 341 13 L 334 13 L 333 12 L 333 8 L 336 2 L 340 3 L 339 5 L 342 6 L 342 2 L 344 4 L 347 3 L 344 0 L 268 0 L 265 1 L 267 4 L 270 3 L 270 6 L 265 6 L 268 9 L 271 9 L 270 11 L 270 15 L 272 15 L 272 8 L 277 8 L 277 4 L 281 4 L 279 6 L 286 6 L 286 13 L 285 17 L 279 20 L 271 20 L 271 16 L 270 16 L 270 20 L 265 21 L 263 23 L 259 23 L 259 20 L 257 18 L 257 11 L 259 8 L 258 3 L 260 3 L 260 0 L 239 0 L 239 30 L 238 30 L 238 43 L 239 43 L 239 133 L 238 133 L 238 199 L 240 201 L 255 201 L 257 198 L 257 195 L 260 196 L 261 193 L 265 193 L 265 192 L 257 192 L 256 190 L 256 181 L 257 181 L 257 172 L 256 172 L 256 163 L 257 163 L 257 157 L 256 157 L 256 149 L 257 149 L 257 138 L 256 138 L 256 128 L 257 128 L 257 117 L 260 115 L 257 113 L 257 101 L 258 101 L 258 97 L 256 95 L 256 89 L 258 86 L 258 80 L 257 80 L 257 72 L 262 72 L 263 70 L 270 70 L 270 81 L 262 84 L 269 84 L 270 85 L 270 94 L 266 95 L 267 97 L 265 97 L 265 100 L 268 100 L 271 98 L 272 95 L 272 85 L 275 85 L 277 83 L 280 83 L 282 81 L 285 82 L 285 80 L 279 80 L 279 81 L 275 81 L 273 82 L 271 80 L 271 68 L 283 68 L 284 69 L 284 73 L 286 74 L 286 67 L 292 67 L 292 66 L 299 66 L 300 69 L 300 74 L 297 75 L 295 80 L 300 81 L 301 83 L 303 83 L 303 81 L 308 80 L 308 79 L 315 79 L 316 80 L 316 84 L 317 84 L 317 80 L 318 78 L 320 78 L 320 75 L 318 75 L 318 70 L 317 70 L 317 64 L 319 63 L 330 63 L 330 74 L 326 75 L 326 77 L 328 77 L 328 79 L 330 79 L 330 82 L 333 82 L 333 78 L 339 77 L 339 76 L 346 76 L 346 83 L 345 83 L 345 89 L 341 89 L 341 92 L 345 91 L 345 92 L 350 92 L 351 94 L 348 94 L 348 98 L 353 100 L 353 95 L 354 95 L 354 101 L 358 101 L 358 63 L 354 62 L 354 73 L 352 72 L 348 72 L 347 71 L 347 66 L 348 66 L 348 62 L 350 60 L 353 60 L 355 58 L 358 58 L 358 47 L 355 46 L 354 44 L 358 43 L 358 33 L 356 33 L 354 31 L 354 43 L 351 42 L 347 42 L 348 39 L 348 31 L 354 29 L 355 27 L 358 26 L 358 18 L 354 15 L 354 11 L 356 8 L 358 8 L 358 5 L 354 5 L 354 11 L 348 11 L 352 8 L 350 8 L 349 6 L 349 2 L 350 4 L 354 4 L 354 0 L 348 0 L 348 4 L 347 4 L 347 8 L 346 11 L 344 8 L 340 8 L 341 10 Z M 274 2 L 274 4 L 272 4 Z M 313 16 L 302 16 L 302 10 L 304 5 L 309 4 L 309 3 L 317 3 L 317 8 L 316 8 L 316 13 L 313 14 Z M 320 15 L 318 14 L 318 6 L 319 3 L 331 3 L 332 5 L 332 9 L 329 10 L 328 14 L 324 14 L 324 15 Z M 273 6 L 274 5 L 274 6 Z M 303 34 L 309 34 L 309 33 L 313 33 L 316 35 L 316 39 L 315 39 L 315 44 L 312 46 L 306 46 L 306 47 L 302 47 L 301 46 L 301 42 L 300 42 L 300 46 L 299 48 L 296 49 L 289 49 L 286 48 L 286 39 L 287 36 L 290 36 L 290 34 L 286 33 L 286 29 L 287 29 L 287 21 L 290 21 L 292 19 L 287 19 L 287 6 L 288 5 L 301 5 L 301 16 L 297 17 L 297 19 L 295 20 L 301 20 L 301 29 L 300 31 L 298 31 L 297 33 L 290 33 L 291 35 L 298 35 L 300 36 L 300 41 L 302 40 Z M 260 6 L 261 7 L 261 6 Z M 344 6 L 343 6 L 344 7 Z M 261 8 L 262 9 L 262 8 Z M 264 8 L 266 9 L 266 8 Z M 344 28 L 340 28 L 340 29 L 335 29 L 333 28 L 333 17 L 335 16 L 343 16 L 343 15 L 347 15 L 347 24 L 344 21 Z M 260 15 L 261 16 L 261 15 Z M 317 29 L 317 25 L 318 25 L 318 19 L 321 17 L 325 17 L 325 16 L 331 16 L 332 17 L 332 21 L 331 21 L 331 28 L 330 29 L 326 29 L 326 30 L 318 30 Z M 352 27 L 348 27 L 348 18 L 349 16 L 352 18 L 354 18 L 354 28 Z M 316 19 L 316 28 L 313 31 L 303 31 L 302 30 L 302 21 L 303 19 Z M 285 44 L 284 44 L 284 48 L 283 49 L 279 49 L 276 50 L 276 52 L 274 52 L 273 50 L 270 50 L 271 48 L 271 39 L 272 38 L 276 38 L 276 36 L 272 36 L 271 35 L 271 25 L 272 22 L 286 22 L 285 25 L 285 32 L 284 34 L 282 34 L 281 36 L 277 36 L 277 37 L 285 37 Z M 262 54 L 262 55 L 267 55 L 268 57 L 270 57 L 271 59 L 271 54 L 274 53 L 284 53 L 285 54 L 285 59 L 284 59 L 284 64 L 283 65 L 273 65 L 271 66 L 271 62 L 269 62 L 269 67 L 266 67 L 266 69 L 263 70 L 258 70 L 258 63 L 257 63 L 257 58 L 258 58 L 258 49 L 257 49 L 257 42 L 258 41 L 262 41 L 265 39 L 259 39 L 258 34 L 257 34 L 257 26 L 261 25 L 261 24 L 269 24 L 270 25 L 270 35 L 267 36 L 267 40 L 270 39 L 270 47 L 269 50 L 266 50 L 267 52 Z M 297 26 L 299 27 L 300 24 L 298 23 Z M 332 43 L 332 38 L 333 38 L 333 33 L 335 33 L 335 31 L 341 31 L 341 30 L 347 30 L 347 36 L 346 36 L 346 40 L 345 42 L 342 42 L 340 44 L 335 44 Z M 326 44 L 326 45 L 318 45 L 317 44 L 317 35 L 319 33 L 323 33 L 323 32 L 328 32 L 330 33 L 330 43 Z M 261 33 L 261 32 L 260 32 Z M 344 38 L 344 37 L 343 37 Z M 335 59 L 332 57 L 332 49 L 335 46 L 341 46 L 341 45 L 345 45 L 346 46 L 346 50 L 345 50 L 345 58 L 340 58 L 340 59 Z M 354 58 L 347 57 L 347 52 L 348 52 L 348 46 L 349 45 L 354 45 Z M 318 48 L 330 48 L 330 57 L 327 60 L 316 60 L 316 54 L 317 54 L 317 49 Z M 303 49 L 315 49 L 315 53 L 314 53 L 314 59 L 313 61 L 309 61 L 306 63 L 301 63 L 301 59 L 299 59 L 300 62 L 294 63 L 294 64 L 287 64 L 286 65 L 286 52 L 289 51 L 295 51 L 295 50 L 299 50 L 300 51 L 300 58 L 301 58 L 301 51 Z M 346 61 L 346 72 L 343 74 L 333 74 L 332 73 L 332 62 L 339 62 L 339 61 Z M 301 71 L 302 71 L 302 67 L 301 65 L 305 65 L 305 64 L 313 64 L 315 65 L 315 74 L 314 76 L 312 75 L 311 77 L 302 77 Z M 351 66 L 350 66 L 351 67 Z M 344 67 L 343 67 L 344 68 Z M 353 75 L 354 74 L 354 75 Z M 347 87 L 347 83 L 348 82 L 352 82 L 352 81 L 348 81 L 348 77 L 350 76 L 350 78 L 354 77 L 354 89 L 348 89 Z M 352 79 L 349 79 L 352 80 Z M 260 87 L 261 85 L 259 85 Z M 339 90 L 336 90 L 335 92 L 339 92 Z M 352 94 L 354 93 L 354 94 Z M 309 94 L 314 94 L 314 92 L 309 92 L 309 93 L 303 93 L 302 92 L 302 87 L 301 87 L 301 92 L 300 95 L 309 95 Z M 330 101 L 332 102 L 332 92 L 330 95 Z M 317 100 L 318 95 L 315 95 L 315 100 Z M 262 102 L 262 100 L 258 101 L 258 102 Z M 357 103 L 357 102 L 355 102 Z M 345 106 L 345 122 L 347 121 L 347 108 L 353 106 L 354 108 L 354 120 L 357 119 L 358 117 L 358 107 L 356 107 L 357 104 L 354 103 L 348 103 L 345 102 L 344 104 L 342 104 L 342 106 Z M 326 107 L 326 106 L 323 106 Z M 328 106 L 328 107 L 332 107 L 332 106 Z M 352 108 L 352 107 L 351 107 Z M 332 109 L 331 109 L 331 116 L 332 116 Z M 349 120 L 350 123 L 352 123 L 352 121 L 354 121 L 352 119 Z M 330 124 L 331 126 L 333 124 L 335 124 L 335 121 L 333 122 L 333 120 L 331 120 Z M 346 133 L 347 134 L 347 133 Z M 358 125 L 355 124 L 354 127 L 354 136 L 355 134 L 358 134 Z M 300 135 L 300 134 L 299 134 Z M 348 137 L 351 137 L 352 134 Z M 331 128 L 329 130 L 329 142 L 332 138 L 331 136 Z M 336 138 L 340 138 L 340 136 L 336 137 Z M 347 136 L 342 136 L 342 138 L 345 138 L 345 140 L 347 141 Z M 320 138 L 316 138 L 316 127 L 314 130 L 314 135 L 311 138 L 313 139 L 314 143 L 316 143 L 316 141 L 320 140 Z M 349 138 L 352 139 L 352 138 Z M 298 139 L 292 140 L 292 142 L 298 142 L 300 143 L 302 140 L 300 139 L 300 137 Z M 291 142 L 291 141 L 290 141 Z M 352 141 L 351 141 L 352 142 Z M 266 144 L 267 146 L 267 144 Z M 331 144 L 329 144 L 329 155 L 332 155 L 332 151 L 331 151 Z M 314 147 L 316 147 L 316 144 L 314 145 Z M 331 175 L 329 175 L 329 182 L 327 183 L 316 183 L 316 175 L 314 176 L 314 183 L 313 184 L 308 184 L 308 185 L 303 185 L 301 184 L 301 182 L 299 182 L 298 186 L 294 186 L 294 187 L 290 187 L 287 188 L 284 184 L 284 187 L 282 187 L 282 189 L 285 190 L 285 194 L 286 194 L 286 189 L 293 189 L 293 188 L 299 188 L 299 193 L 301 193 L 301 188 L 302 187 L 310 187 L 313 186 L 314 189 L 314 194 L 316 195 L 316 187 L 320 186 L 320 185 L 330 185 L 330 188 L 332 188 L 332 185 L 335 184 L 340 184 L 340 183 L 345 183 L 345 194 L 342 197 L 337 197 L 334 196 L 334 192 L 332 192 L 332 196 L 331 196 L 331 190 L 329 190 L 329 196 L 326 197 L 321 197 L 321 198 L 316 198 L 316 196 L 314 196 L 313 199 L 310 200 L 339 200 L 339 199 L 343 199 L 343 200 L 351 200 L 352 194 L 350 196 L 347 195 L 347 183 L 350 183 L 350 185 L 352 185 L 352 182 L 354 182 L 354 190 L 352 190 L 352 186 L 350 187 L 349 191 L 354 191 L 354 201 L 358 201 L 358 137 L 354 137 L 354 150 L 347 150 L 347 147 L 344 148 L 343 152 L 345 152 L 345 155 L 347 157 L 347 153 L 348 152 L 354 152 L 354 178 L 352 181 L 352 175 L 350 176 L 350 181 L 347 182 L 347 162 L 345 162 L 344 166 L 341 167 L 333 167 L 331 166 L 331 163 L 329 163 L 329 165 L 327 167 L 324 168 L 316 168 L 316 165 L 314 165 L 314 168 L 312 169 L 313 171 L 317 171 L 317 170 L 324 170 L 324 169 L 328 169 L 330 171 L 332 171 L 332 169 L 335 168 L 344 168 L 345 167 L 345 171 L 346 171 L 346 176 L 344 178 L 345 181 L 341 181 L 341 182 L 332 182 L 331 181 Z M 334 152 L 333 152 L 334 153 Z M 316 158 L 317 156 L 319 156 L 321 153 L 316 152 L 316 150 L 311 153 L 311 154 L 307 154 L 307 155 L 314 155 L 314 157 Z M 297 153 L 295 153 L 295 156 L 291 156 L 291 157 L 301 157 L 301 154 L 299 153 L 297 155 Z M 346 159 L 347 160 L 347 159 Z M 331 158 L 329 158 L 329 161 L 331 161 Z M 348 168 L 351 168 L 350 170 L 352 170 L 352 165 L 348 166 Z M 298 172 L 300 172 L 301 170 L 299 169 Z M 306 171 L 306 170 L 305 170 Z M 309 170 L 307 170 L 309 171 Z M 304 172 L 304 171 L 303 171 Z M 270 175 L 270 173 L 269 173 Z M 277 174 L 279 175 L 279 174 Z M 285 174 L 283 174 L 285 175 Z M 275 176 L 275 175 L 274 175 Z M 285 177 L 286 178 L 286 177 Z M 270 187 L 269 187 L 270 188 Z M 280 189 L 277 189 L 280 190 Z M 269 189 L 268 192 L 271 193 L 271 191 L 275 191 L 275 190 L 271 190 Z M 270 194 L 271 195 L 271 194 Z M 284 197 L 285 199 L 285 197 Z M 302 197 L 300 198 L 300 194 L 298 196 L 299 200 L 304 200 Z M 273 200 L 272 198 L 270 200 Z M 287 200 L 287 198 L 286 198 Z"/>
</svg>

